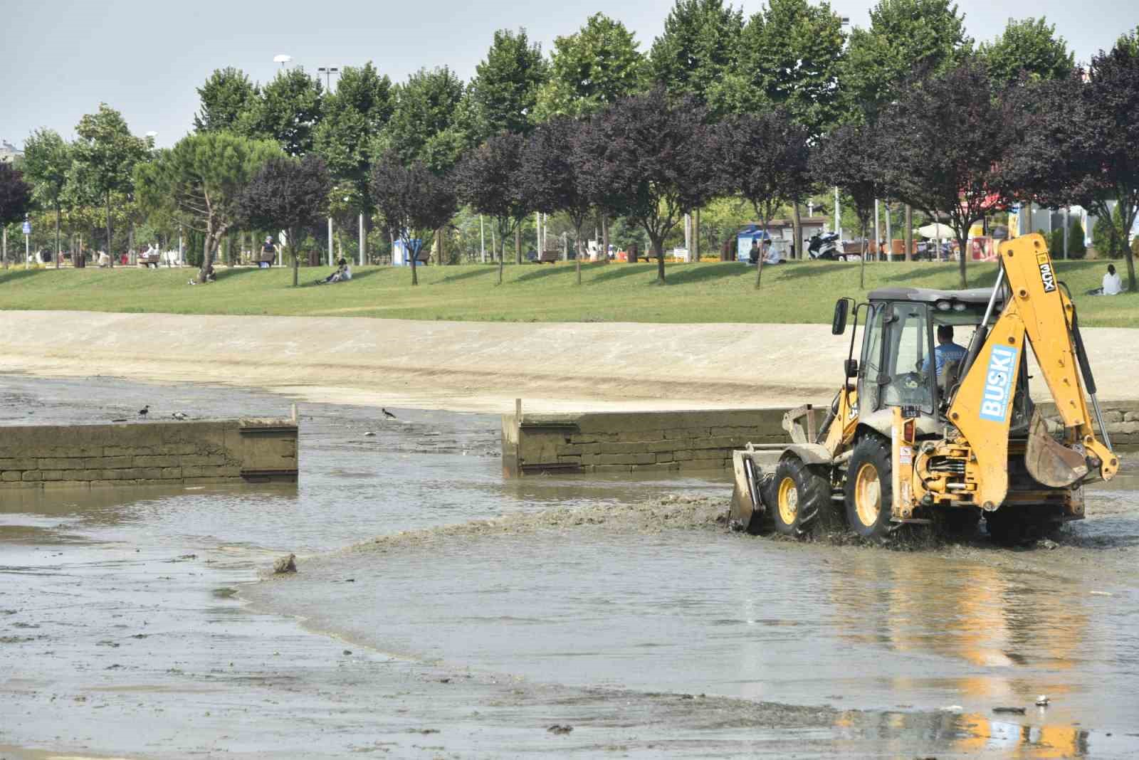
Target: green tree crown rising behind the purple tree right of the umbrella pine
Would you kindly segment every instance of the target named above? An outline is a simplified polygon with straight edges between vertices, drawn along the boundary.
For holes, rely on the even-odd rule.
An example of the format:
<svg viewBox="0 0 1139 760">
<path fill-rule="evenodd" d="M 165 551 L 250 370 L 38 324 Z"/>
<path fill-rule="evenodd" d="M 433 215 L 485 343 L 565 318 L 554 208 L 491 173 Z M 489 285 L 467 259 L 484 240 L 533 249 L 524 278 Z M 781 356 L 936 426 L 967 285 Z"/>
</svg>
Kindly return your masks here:
<svg viewBox="0 0 1139 760">
<path fill-rule="evenodd" d="M 323 109 L 323 88 L 301 68 L 278 72 L 240 113 L 235 132 L 255 140 L 274 140 L 289 156 L 313 149 Z"/>
</svg>

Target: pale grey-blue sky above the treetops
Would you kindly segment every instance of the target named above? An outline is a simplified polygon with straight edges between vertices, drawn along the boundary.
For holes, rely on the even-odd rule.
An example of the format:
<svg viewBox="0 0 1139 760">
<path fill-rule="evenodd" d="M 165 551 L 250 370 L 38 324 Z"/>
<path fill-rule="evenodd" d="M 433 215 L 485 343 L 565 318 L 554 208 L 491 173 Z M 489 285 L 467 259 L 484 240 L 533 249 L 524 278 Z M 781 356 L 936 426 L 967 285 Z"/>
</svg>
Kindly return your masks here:
<svg viewBox="0 0 1139 760">
<path fill-rule="evenodd" d="M 734 0 L 745 16 L 762 0 Z M 834 0 L 855 26 L 869 25 L 875 3 Z M 1000 34 L 1010 16 L 1046 16 L 1067 40 L 1076 60 L 1111 48 L 1139 25 L 1134 0 L 959 0 L 966 27 L 977 41 Z M 420 67 L 446 65 L 469 79 L 498 28 L 525 27 L 552 48 L 598 10 L 622 20 L 647 51 L 661 34 L 672 0 L 590 3 L 470 2 L 469 0 L 0 0 L 6 22 L 0 99 L 0 139 L 17 147 L 32 130 L 74 138 L 83 114 L 106 102 L 136 134 L 156 132 L 169 147 L 192 126 L 196 88 L 215 68 L 236 66 L 251 79 L 276 75 L 273 56 L 316 73 L 318 66 L 368 60 L 402 81 Z"/>
</svg>

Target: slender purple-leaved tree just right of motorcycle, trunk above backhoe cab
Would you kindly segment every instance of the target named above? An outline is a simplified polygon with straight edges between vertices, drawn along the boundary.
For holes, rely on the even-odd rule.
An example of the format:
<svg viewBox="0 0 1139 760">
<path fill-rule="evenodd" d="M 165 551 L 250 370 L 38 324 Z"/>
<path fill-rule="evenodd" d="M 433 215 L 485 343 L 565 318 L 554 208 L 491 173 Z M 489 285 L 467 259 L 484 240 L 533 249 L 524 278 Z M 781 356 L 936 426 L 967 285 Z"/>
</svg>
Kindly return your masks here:
<svg viewBox="0 0 1139 760">
<path fill-rule="evenodd" d="M 811 172 L 820 183 L 835 184 L 853 201 L 862 238 L 862 263 L 859 267 L 859 287 L 866 287 L 867 228 L 878 197 L 878 175 L 875 170 L 878 151 L 874 130 L 868 125 L 847 124 L 828 134 L 811 155 Z"/>
</svg>

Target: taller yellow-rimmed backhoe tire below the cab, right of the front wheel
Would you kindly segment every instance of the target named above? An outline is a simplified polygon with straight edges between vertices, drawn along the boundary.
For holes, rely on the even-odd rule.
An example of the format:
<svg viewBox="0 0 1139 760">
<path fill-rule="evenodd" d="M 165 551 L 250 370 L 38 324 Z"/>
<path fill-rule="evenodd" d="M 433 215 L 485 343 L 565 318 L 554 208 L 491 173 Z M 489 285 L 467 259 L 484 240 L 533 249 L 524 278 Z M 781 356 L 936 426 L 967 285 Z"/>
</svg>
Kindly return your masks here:
<svg viewBox="0 0 1139 760">
<path fill-rule="evenodd" d="M 855 536 L 880 543 L 893 531 L 893 456 L 890 443 L 866 436 L 854 446 L 846 469 L 846 524 Z"/>
</svg>

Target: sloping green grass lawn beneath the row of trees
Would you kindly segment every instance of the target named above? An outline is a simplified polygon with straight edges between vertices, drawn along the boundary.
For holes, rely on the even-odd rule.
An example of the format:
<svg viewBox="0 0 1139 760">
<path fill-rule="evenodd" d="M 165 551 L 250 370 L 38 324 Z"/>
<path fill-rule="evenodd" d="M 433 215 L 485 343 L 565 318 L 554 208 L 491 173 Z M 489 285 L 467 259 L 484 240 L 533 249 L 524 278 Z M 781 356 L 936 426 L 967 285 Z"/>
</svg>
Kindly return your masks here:
<svg viewBox="0 0 1139 760">
<path fill-rule="evenodd" d="M 1089 327 L 1139 327 L 1139 295 L 1092 298 L 1106 262 L 1058 262 Z M 425 266 L 419 287 L 403 267 L 366 266 L 351 282 L 317 287 L 327 267 L 224 266 L 218 282 L 189 286 L 192 269 L 0 270 L 0 309 L 85 309 L 170 314 L 280 314 L 511 322 L 829 322 L 839 296 L 861 298 L 859 266 L 806 262 L 768 266 L 756 291 L 755 270 L 737 263 L 670 264 L 655 284 L 656 264 L 587 264 L 582 286 L 572 263 L 507 266 L 501 286 L 493 265 Z M 989 287 L 994 264 L 970 264 L 969 287 Z M 868 263 L 868 289 L 958 286 L 956 264 Z"/>
</svg>

